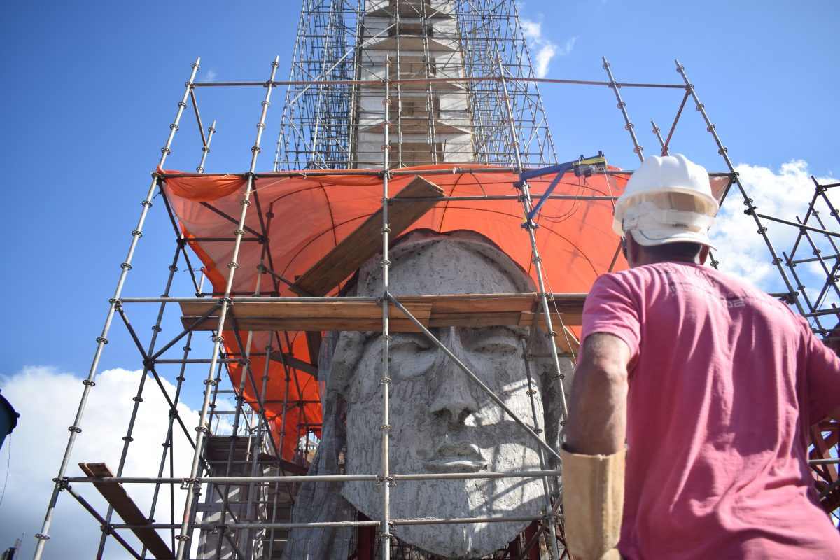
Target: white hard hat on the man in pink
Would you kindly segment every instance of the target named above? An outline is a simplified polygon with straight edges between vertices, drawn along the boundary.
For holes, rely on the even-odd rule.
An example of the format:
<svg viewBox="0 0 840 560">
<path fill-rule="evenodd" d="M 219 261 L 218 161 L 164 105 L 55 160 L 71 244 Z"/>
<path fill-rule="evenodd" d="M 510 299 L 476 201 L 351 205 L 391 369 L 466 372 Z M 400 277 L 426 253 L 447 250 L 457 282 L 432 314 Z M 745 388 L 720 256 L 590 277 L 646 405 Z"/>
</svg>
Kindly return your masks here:
<svg viewBox="0 0 840 560">
<path fill-rule="evenodd" d="M 646 247 L 685 241 L 715 249 L 708 232 L 717 209 L 701 165 L 683 154 L 651 155 L 618 197 L 612 229 L 622 236 L 632 233 Z"/>
</svg>

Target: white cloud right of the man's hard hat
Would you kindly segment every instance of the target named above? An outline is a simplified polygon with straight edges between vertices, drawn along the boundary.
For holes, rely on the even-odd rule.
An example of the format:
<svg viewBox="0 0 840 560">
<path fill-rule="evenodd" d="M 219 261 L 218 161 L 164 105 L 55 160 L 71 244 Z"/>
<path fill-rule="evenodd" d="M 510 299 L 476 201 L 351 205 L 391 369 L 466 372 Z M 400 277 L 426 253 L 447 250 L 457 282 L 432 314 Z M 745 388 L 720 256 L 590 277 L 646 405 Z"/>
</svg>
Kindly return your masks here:
<svg viewBox="0 0 840 560">
<path fill-rule="evenodd" d="M 811 174 L 808 164 L 803 160 L 791 160 L 783 164 L 778 171 L 771 170 L 760 165 L 739 164 L 735 168 L 741 183 L 747 191 L 748 196 L 753 198 L 756 212 L 772 217 L 779 217 L 790 222 L 795 222 L 797 217 L 805 217 L 808 202 L 814 194 L 814 183 L 811 181 Z M 817 178 L 821 183 L 837 182 L 832 178 Z M 772 263 L 764 238 L 758 233 L 758 226 L 753 217 L 743 213 L 746 207 L 743 205 L 743 196 L 738 191 L 738 186 L 732 186 L 732 190 L 724 202 L 723 208 L 717 217 L 717 224 L 712 228 L 712 241 L 717 245 L 716 259 L 720 261 L 720 269 L 732 275 L 737 275 L 745 280 L 758 285 L 761 289 L 780 292 L 785 291 L 785 284 Z M 827 228 L 837 231 L 837 222 L 834 217 L 828 215 L 828 210 L 823 208 L 821 217 L 827 222 Z M 767 234 L 770 242 L 773 243 L 776 254 L 784 259 L 786 253 L 790 256 L 793 249 L 798 228 L 762 219 L 764 227 L 768 228 Z M 818 224 L 809 220 L 809 225 Z M 825 236 L 816 234 L 811 236 L 816 246 L 822 249 L 822 254 L 828 254 L 827 239 Z M 831 254 L 833 254 L 833 249 Z M 796 250 L 796 259 L 812 257 L 812 249 L 807 241 L 803 239 Z M 785 268 L 790 277 L 790 272 Z M 819 264 L 805 264 L 797 267 L 797 275 L 806 285 L 810 296 L 816 296 L 826 280 L 826 275 Z M 821 278 L 822 275 L 822 278 Z M 795 285 L 795 280 L 790 277 Z M 816 293 L 811 293 L 815 290 Z M 795 286 L 794 286 L 795 287 Z"/>
</svg>

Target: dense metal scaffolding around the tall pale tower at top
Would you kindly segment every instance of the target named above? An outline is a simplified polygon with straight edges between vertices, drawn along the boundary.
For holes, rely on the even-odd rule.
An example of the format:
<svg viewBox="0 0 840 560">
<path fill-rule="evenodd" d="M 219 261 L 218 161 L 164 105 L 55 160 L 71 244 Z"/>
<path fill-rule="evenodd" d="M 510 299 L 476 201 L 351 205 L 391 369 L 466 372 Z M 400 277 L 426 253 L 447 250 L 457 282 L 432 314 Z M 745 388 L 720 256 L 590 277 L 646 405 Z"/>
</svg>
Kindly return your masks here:
<svg viewBox="0 0 840 560">
<path fill-rule="evenodd" d="M 275 170 L 380 165 L 386 55 L 396 167 L 556 161 L 514 0 L 306 0 Z"/>
</svg>

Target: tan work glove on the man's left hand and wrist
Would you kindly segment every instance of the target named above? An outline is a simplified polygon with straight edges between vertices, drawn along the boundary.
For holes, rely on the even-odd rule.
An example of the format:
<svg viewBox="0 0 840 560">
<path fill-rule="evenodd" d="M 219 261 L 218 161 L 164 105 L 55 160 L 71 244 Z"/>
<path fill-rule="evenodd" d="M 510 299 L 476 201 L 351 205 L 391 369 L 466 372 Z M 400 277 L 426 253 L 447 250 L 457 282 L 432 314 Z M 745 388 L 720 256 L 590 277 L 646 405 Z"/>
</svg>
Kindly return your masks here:
<svg viewBox="0 0 840 560">
<path fill-rule="evenodd" d="M 579 455 L 560 450 L 566 547 L 575 560 L 620 560 L 624 450 Z"/>
</svg>

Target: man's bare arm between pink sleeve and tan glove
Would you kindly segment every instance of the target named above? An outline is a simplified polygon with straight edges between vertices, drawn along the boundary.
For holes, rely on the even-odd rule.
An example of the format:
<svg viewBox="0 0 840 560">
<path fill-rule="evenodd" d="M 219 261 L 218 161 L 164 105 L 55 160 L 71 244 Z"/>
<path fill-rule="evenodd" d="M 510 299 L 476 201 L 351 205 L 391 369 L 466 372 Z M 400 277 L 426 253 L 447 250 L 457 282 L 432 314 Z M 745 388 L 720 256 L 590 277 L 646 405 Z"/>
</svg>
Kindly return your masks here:
<svg viewBox="0 0 840 560">
<path fill-rule="evenodd" d="M 627 432 L 627 364 L 621 338 L 594 332 L 584 340 L 572 382 L 565 447 L 572 453 L 610 455 L 624 448 Z"/>
</svg>

